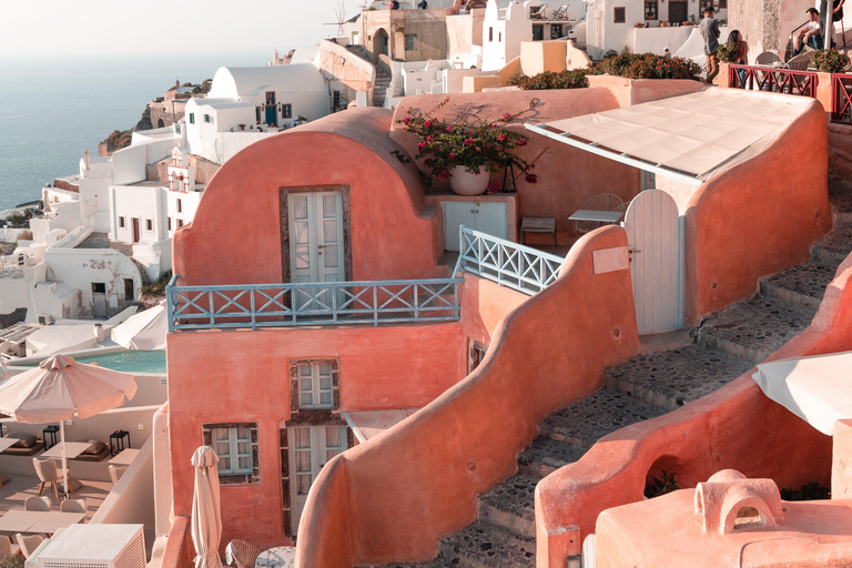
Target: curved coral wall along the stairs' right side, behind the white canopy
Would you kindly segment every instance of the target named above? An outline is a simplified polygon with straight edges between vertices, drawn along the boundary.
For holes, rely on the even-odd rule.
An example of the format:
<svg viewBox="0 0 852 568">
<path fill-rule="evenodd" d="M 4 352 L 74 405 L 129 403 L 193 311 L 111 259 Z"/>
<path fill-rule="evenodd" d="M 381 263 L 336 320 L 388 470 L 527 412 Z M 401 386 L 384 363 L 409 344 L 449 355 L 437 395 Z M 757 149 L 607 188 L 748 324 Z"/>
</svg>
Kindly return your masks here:
<svg viewBox="0 0 852 568">
<path fill-rule="evenodd" d="M 852 256 L 838 270 L 811 325 L 767 361 L 852 349 Z M 537 566 L 565 566 L 600 511 L 642 498 L 658 459 L 693 487 L 724 468 L 769 477 L 779 487 L 830 481 L 832 439 L 767 398 L 752 371 L 687 406 L 601 438 L 579 462 L 536 487 Z M 656 469 L 656 468 L 655 468 Z M 651 471 L 652 475 L 657 471 Z M 560 534 L 579 526 L 576 545 Z"/>
</svg>

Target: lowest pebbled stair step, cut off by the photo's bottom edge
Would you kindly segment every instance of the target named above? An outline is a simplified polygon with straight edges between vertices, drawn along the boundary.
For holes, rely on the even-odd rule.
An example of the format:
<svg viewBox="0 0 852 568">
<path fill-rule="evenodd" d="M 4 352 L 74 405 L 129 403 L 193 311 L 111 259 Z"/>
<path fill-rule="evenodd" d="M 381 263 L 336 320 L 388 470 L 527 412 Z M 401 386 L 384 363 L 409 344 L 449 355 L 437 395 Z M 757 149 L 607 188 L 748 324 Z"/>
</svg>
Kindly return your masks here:
<svg viewBox="0 0 852 568">
<path fill-rule="evenodd" d="M 476 521 L 440 539 L 438 560 L 459 568 L 517 568 L 536 566 L 536 542 L 518 538 L 494 525 Z"/>
</svg>

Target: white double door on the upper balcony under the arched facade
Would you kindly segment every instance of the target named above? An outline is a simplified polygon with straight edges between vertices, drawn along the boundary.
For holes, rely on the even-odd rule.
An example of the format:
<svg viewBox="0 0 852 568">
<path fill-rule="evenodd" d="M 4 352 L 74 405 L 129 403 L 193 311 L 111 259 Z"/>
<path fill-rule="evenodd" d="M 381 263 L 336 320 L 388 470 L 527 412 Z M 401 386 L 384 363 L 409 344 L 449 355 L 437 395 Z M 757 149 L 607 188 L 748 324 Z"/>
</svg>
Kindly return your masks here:
<svg viewBox="0 0 852 568">
<path fill-rule="evenodd" d="M 345 281 L 341 192 L 291 193 L 287 211 L 291 282 Z M 316 304 L 307 296 L 295 303 Z"/>
</svg>

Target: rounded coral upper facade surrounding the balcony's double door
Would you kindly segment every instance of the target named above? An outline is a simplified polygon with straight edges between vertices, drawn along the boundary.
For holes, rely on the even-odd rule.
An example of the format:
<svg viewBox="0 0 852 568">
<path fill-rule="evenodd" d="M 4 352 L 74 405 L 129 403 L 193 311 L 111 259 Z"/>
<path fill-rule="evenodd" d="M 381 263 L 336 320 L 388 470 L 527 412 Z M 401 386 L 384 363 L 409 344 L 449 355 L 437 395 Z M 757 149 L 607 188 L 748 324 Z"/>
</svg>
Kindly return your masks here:
<svg viewBox="0 0 852 568">
<path fill-rule="evenodd" d="M 413 165 L 390 152 L 390 111 L 353 109 L 256 142 L 204 190 L 174 235 L 179 285 L 282 281 L 280 189 L 348 185 L 352 280 L 437 277 L 440 215 L 426 207 Z"/>
</svg>

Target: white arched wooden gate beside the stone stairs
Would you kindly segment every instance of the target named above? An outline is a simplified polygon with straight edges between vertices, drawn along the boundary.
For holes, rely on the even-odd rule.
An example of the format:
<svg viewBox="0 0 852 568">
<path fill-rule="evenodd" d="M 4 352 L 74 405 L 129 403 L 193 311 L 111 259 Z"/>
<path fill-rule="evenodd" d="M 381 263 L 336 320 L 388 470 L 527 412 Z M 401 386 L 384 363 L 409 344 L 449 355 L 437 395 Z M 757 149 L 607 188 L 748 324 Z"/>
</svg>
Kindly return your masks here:
<svg viewBox="0 0 852 568">
<path fill-rule="evenodd" d="M 643 191 L 625 215 L 639 335 L 683 327 L 683 223 L 674 200 Z"/>
</svg>

